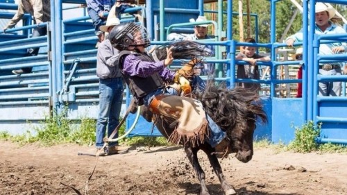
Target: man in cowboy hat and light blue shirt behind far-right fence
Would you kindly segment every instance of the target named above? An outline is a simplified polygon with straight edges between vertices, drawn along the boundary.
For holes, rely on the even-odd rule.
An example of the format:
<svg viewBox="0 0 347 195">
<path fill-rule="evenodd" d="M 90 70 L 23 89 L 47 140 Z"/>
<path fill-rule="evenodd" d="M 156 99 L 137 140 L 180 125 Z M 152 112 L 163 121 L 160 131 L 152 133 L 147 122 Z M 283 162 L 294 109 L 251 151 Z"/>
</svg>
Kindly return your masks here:
<svg viewBox="0 0 347 195">
<path fill-rule="evenodd" d="M 319 35 L 332 35 L 346 33 L 344 28 L 336 26 L 330 19 L 335 16 L 334 8 L 325 6 L 324 3 L 316 3 L 315 6 L 315 33 Z M 286 43 L 288 46 L 293 46 L 294 42 L 303 41 L 303 29 L 298 33 L 291 35 L 287 38 Z M 342 53 L 347 51 L 346 42 L 333 42 L 327 44 L 320 44 L 319 54 L 330 55 L 334 53 Z M 320 64 L 319 74 L 321 75 L 341 75 L 341 67 L 344 65 L 342 62 L 333 62 L 331 64 Z M 319 83 L 320 96 L 340 96 L 341 95 L 341 82 L 323 82 Z"/>
</svg>

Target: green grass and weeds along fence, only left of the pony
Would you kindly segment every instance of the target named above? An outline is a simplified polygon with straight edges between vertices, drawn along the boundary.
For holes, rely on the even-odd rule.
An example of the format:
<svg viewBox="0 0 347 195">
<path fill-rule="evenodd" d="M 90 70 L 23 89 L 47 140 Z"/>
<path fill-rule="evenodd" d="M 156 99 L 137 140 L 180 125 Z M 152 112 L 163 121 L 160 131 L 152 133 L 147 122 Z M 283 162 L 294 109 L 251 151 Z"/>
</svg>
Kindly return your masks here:
<svg viewBox="0 0 347 195">
<path fill-rule="evenodd" d="M 35 143 L 40 146 L 52 146 L 56 144 L 81 144 L 92 146 L 95 144 L 96 119 L 83 118 L 79 120 L 67 119 L 67 110 L 60 114 L 52 113 L 40 121 L 40 127 L 33 127 L 33 131 L 27 131 L 23 135 L 10 135 L 6 131 L 0 131 L 0 139 L 9 140 L 19 145 Z M 119 136 L 124 135 L 125 125 L 119 129 Z M 119 140 L 119 144 L 131 146 L 167 146 L 164 137 L 127 137 Z"/>
</svg>

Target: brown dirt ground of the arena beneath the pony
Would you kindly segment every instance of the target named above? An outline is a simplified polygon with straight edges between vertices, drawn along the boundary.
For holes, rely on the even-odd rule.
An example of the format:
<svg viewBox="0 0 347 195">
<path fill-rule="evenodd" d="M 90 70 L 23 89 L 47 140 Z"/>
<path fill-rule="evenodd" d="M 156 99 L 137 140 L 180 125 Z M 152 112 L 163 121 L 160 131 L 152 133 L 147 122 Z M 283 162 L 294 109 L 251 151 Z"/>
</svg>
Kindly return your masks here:
<svg viewBox="0 0 347 195">
<path fill-rule="evenodd" d="M 0 194 L 85 194 L 96 158 L 94 147 L 22 146 L 0 142 Z M 208 160 L 199 153 L 210 194 L 223 194 Z M 276 153 L 255 149 L 246 164 L 234 155 L 221 160 L 237 194 L 347 194 L 347 154 Z M 198 194 L 200 185 L 182 147 L 130 150 L 99 158 L 87 194 Z"/>
</svg>

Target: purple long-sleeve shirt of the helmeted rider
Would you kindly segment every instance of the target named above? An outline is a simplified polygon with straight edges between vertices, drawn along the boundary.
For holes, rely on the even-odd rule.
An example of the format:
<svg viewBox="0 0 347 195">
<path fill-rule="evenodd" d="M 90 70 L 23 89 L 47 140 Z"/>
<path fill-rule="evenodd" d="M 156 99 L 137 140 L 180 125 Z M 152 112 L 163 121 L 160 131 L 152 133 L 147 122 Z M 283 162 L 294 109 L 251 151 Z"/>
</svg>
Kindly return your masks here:
<svg viewBox="0 0 347 195">
<path fill-rule="evenodd" d="M 123 71 L 130 76 L 148 77 L 158 72 L 163 80 L 174 80 L 175 72 L 164 66 L 164 60 L 160 62 L 146 62 L 137 56 L 126 56 L 123 63 Z"/>
</svg>

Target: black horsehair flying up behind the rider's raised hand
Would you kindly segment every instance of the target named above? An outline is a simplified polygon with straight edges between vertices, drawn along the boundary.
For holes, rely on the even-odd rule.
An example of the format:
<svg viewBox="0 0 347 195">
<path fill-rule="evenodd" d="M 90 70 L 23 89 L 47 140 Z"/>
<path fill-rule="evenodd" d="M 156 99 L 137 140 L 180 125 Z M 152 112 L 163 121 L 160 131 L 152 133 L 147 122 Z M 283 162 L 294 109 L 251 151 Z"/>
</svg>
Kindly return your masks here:
<svg viewBox="0 0 347 195">
<path fill-rule="evenodd" d="M 204 44 L 185 40 L 158 46 L 152 52 L 152 56 L 155 55 L 158 60 L 164 60 L 165 58 L 167 58 L 167 48 L 171 47 L 172 57 L 174 57 L 175 59 L 191 60 L 192 57 L 204 57 L 212 55 L 212 51 L 208 49 Z"/>
</svg>

